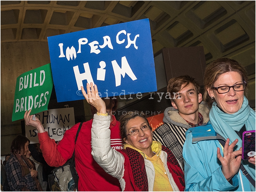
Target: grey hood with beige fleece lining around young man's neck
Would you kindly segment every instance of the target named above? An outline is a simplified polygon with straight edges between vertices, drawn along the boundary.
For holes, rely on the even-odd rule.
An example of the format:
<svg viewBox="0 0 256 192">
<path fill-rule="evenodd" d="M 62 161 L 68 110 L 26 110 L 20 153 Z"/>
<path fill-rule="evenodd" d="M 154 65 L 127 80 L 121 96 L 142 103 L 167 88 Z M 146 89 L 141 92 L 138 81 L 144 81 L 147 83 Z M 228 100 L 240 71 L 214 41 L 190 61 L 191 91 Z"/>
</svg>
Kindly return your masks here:
<svg viewBox="0 0 256 192">
<path fill-rule="evenodd" d="M 207 123 L 209 121 L 209 112 L 210 109 L 208 108 L 206 102 L 202 101 L 199 104 L 199 113 L 203 116 L 203 123 Z M 191 126 L 183 119 L 179 113 L 178 109 L 174 109 L 174 107 L 168 107 L 164 110 L 164 123 L 171 123 L 180 127 L 184 127 L 189 129 Z"/>
</svg>

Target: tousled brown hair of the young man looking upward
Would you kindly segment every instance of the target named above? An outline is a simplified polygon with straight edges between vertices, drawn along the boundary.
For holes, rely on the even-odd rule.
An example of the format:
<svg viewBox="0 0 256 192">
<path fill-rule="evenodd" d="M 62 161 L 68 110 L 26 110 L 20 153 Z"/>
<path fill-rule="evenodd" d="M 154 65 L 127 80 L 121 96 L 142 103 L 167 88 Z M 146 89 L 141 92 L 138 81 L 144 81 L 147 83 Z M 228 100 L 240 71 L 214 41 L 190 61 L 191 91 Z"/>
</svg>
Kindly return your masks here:
<svg viewBox="0 0 256 192">
<path fill-rule="evenodd" d="M 181 90 L 182 85 L 185 84 L 185 87 L 189 85 L 189 83 L 193 84 L 195 87 L 196 94 L 200 93 L 200 86 L 195 78 L 190 77 L 188 75 L 183 75 L 179 77 L 174 77 L 169 80 L 167 86 L 167 92 L 170 93 L 171 101 L 174 102 L 174 93 L 178 93 Z M 175 102 L 174 102 L 175 103 Z"/>
</svg>

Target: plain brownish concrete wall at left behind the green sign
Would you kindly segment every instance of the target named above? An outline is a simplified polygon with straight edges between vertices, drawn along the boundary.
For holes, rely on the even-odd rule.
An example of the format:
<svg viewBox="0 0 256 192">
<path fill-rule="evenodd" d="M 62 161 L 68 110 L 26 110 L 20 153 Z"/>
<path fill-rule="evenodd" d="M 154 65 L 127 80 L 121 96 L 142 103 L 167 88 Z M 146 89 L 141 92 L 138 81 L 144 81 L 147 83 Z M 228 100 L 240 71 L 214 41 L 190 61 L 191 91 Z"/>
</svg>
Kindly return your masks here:
<svg viewBox="0 0 256 192">
<path fill-rule="evenodd" d="M 47 63 L 50 63 L 47 42 L 1 43 L 1 156 L 10 153 L 12 140 L 21 134 L 20 120 L 12 122 L 16 78 Z"/>
</svg>

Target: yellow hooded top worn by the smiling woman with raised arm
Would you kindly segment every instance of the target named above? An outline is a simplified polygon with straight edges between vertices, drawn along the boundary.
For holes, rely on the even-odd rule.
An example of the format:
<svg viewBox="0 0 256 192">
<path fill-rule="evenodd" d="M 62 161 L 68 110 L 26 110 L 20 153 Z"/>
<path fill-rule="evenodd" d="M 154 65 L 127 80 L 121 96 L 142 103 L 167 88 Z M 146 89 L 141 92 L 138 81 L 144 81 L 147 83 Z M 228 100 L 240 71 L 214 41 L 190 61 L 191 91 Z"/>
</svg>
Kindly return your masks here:
<svg viewBox="0 0 256 192">
<path fill-rule="evenodd" d="M 154 169 L 155 169 L 155 180 L 154 180 L 154 187 L 153 191 L 173 191 L 172 186 L 169 182 L 167 173 L 165 172 L 164 163 L 160 159 L 160 154 L 162 150 L 161 143 L 155 141 L 151 145 L 152 151 L 155 153 L 153 157 L 148 157 L 146 154 L 144 154 L 142 151 L 138 150 L 137 148 L 133 147 L 132 145 L 124 144 L 124 148 L 130 147 L 138 152 L 141 153 L 141 155 L 149 161 L 153 163 Z"/>
</svg>

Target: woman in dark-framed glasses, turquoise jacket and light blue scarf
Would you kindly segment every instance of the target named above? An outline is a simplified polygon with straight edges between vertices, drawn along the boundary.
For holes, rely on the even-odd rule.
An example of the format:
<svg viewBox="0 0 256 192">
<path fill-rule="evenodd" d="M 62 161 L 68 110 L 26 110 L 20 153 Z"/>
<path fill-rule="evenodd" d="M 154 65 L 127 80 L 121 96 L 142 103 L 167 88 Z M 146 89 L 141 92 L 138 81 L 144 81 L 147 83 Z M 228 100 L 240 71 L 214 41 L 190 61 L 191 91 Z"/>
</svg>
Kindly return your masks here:
<svg viewBox="0 0 256 192">
<path fill-rule="evenodd" d="M 186 132 L 186 191 L 255 191 L 255 154 L 249 160 L 241 157 L 243 132 L 255 130 L 255 111 L 244 96 L 247 82 L 244 67 L 235 60 L 220 58 L 206 66 L 210 121 Z"/>
</svg>

